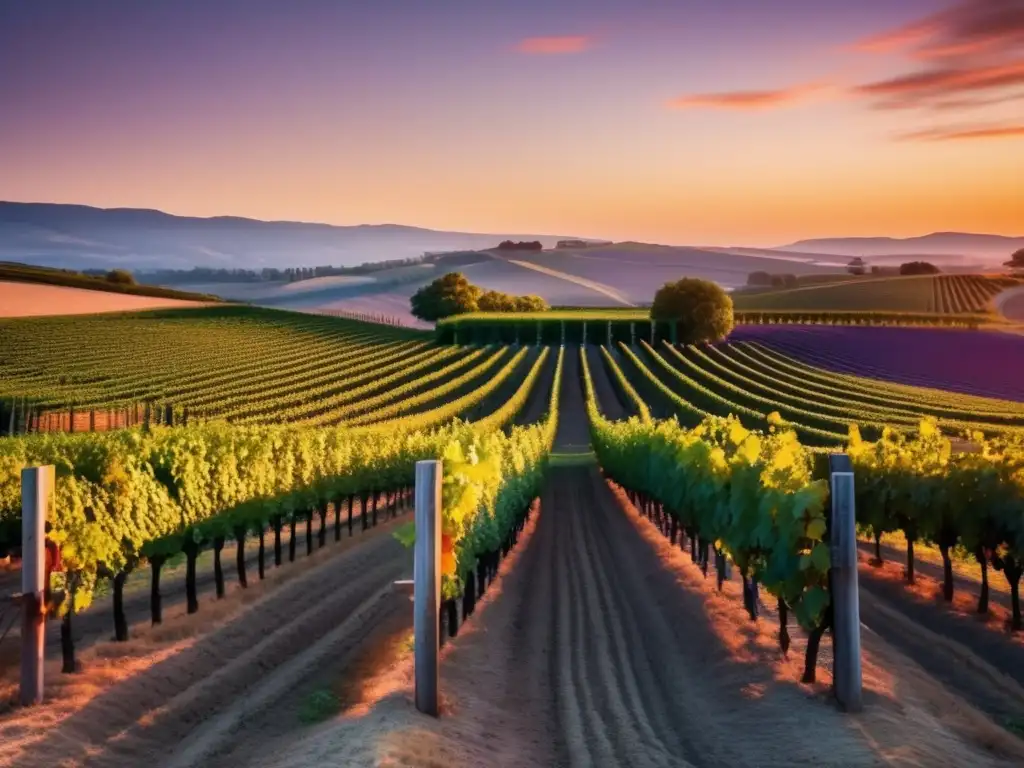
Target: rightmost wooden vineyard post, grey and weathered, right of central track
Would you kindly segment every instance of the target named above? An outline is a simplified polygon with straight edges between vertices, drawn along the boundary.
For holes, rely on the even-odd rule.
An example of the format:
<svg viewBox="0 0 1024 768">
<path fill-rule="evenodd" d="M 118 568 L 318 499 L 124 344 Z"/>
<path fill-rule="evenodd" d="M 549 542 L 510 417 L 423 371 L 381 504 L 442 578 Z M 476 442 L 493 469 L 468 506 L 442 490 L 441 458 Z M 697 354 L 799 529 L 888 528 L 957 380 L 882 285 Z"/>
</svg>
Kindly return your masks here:
<svg viewBox="0 0 1024 768">
<path fill-rule="evenodd" d="M 835 622 L 836 698 L 846 712 L 860 712 L 860 594 L 857 588 L 857 530 L 853 465 L 846 454 L 828 457 L 831 488 L 829 544 Z"/>
</svg>

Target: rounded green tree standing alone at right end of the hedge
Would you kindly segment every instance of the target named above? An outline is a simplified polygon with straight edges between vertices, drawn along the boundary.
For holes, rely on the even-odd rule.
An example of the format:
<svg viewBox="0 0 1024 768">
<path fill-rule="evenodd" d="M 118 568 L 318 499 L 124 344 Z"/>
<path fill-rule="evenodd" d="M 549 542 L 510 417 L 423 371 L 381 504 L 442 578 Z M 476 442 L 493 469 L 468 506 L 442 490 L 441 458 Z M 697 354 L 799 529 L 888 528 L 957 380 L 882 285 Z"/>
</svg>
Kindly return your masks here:
<svg viewBox="0 0 1024 768">
<path fill-rule="evenodd" d="M 694 278 L 662 286 L 654 294 L 650 316 L 655 322 L 677 324 L 680 344 L 721 341 L 735 325 L 729 294 L 714 283 Z"/>
</svg>

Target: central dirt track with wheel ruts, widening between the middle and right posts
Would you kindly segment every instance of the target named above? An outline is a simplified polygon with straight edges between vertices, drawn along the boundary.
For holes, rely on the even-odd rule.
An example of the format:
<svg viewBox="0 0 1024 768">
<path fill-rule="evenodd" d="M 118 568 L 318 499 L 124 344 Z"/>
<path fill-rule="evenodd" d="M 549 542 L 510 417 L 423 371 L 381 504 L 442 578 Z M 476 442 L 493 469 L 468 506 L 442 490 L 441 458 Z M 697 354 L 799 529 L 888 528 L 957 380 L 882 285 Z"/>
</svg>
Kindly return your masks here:
<svg viewBox="0 0 1024 768">
<path fill-rule="evenodd" d="M 1024 743 L 864 634 L 865 712 L 798 682 L 750 622 L 593 467 L 555 467 L 520 546 L 442 651 L 443 712 L 408 650 L 329 722 L 250 744 L 263 768 L 1014 765 Z M 236 763 L 238 764 L 238 763 Z M 228 765 L 227 762 L 214 765 Z"/>
</svg>

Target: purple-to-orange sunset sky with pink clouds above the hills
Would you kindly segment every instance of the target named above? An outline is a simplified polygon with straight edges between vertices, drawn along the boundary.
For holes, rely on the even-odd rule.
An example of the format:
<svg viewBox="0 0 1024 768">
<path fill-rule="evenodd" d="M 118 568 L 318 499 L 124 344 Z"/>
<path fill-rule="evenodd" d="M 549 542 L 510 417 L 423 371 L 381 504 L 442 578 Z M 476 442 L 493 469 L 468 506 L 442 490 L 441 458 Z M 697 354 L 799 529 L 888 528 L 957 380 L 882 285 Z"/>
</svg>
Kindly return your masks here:
<svg viewBox="0 0 1024 768">
<path fill-rule="evenodd" d="M 1024 0 L 0 0 L 0 200 L 1024 234 Z"/>
</svg>

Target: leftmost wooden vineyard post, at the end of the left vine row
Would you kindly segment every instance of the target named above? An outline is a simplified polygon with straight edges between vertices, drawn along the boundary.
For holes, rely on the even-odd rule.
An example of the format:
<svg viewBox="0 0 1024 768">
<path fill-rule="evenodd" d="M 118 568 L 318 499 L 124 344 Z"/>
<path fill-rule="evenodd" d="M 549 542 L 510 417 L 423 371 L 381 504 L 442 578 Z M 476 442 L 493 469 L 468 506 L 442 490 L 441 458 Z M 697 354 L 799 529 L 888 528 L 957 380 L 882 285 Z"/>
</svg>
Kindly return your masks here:
<svg viewBox="0 0 1024 768">
<path fill-rule="evenodd" d="M 53 504 L 53 466 L 22 470 L 22 686 L 24 707 L 43 701 L 46 631 L 46 517 Z"/>
</svg>

